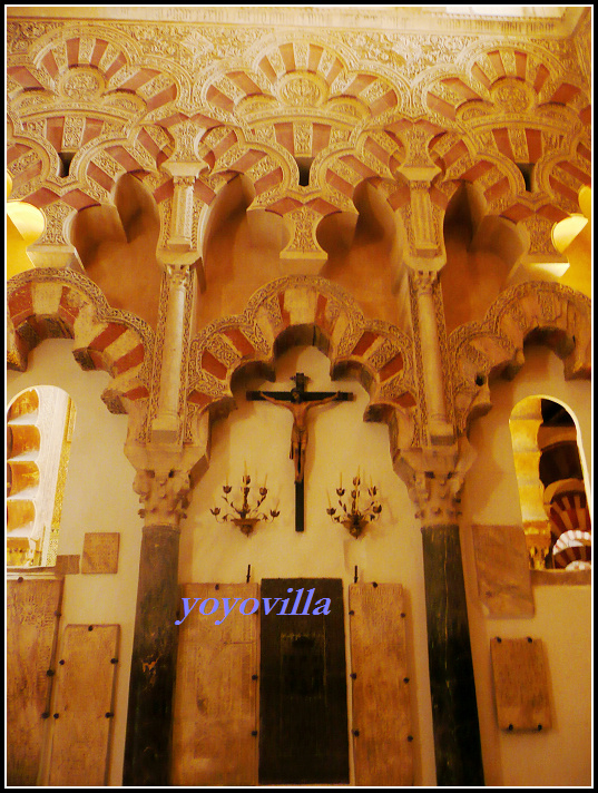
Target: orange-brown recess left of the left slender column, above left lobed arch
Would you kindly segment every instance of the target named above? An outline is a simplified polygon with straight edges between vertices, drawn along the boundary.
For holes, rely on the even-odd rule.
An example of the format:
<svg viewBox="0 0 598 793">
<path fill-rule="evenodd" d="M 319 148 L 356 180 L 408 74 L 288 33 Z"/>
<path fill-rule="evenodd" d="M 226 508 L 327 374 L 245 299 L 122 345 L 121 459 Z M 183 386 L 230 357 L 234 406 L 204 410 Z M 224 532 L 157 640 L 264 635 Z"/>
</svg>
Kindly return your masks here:
<svg viewBox="0 0 598 793">
<path fill-rule="evenodd" d="M 156 202 L 135 174 L 114 188 L 114 205 L 79 212 L 70 237 L 87 276 L 108 303 L 130 311 L 156 329 L 161 271 L 156 258 L 159 217 Z"/>
</svg>

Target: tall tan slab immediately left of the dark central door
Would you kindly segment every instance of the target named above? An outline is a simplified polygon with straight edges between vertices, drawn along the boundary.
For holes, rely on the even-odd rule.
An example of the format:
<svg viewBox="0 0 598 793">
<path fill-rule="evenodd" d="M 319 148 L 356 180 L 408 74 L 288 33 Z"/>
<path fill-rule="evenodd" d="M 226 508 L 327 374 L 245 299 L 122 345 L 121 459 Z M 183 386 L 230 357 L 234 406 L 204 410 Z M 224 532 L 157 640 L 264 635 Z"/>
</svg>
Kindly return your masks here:
<svg viewBox="0 0 598 793">
<path fill-rule="evenodd" d="M 185 584 L 182 597 L 200 600 L 179 626 L 173 784 L 255 785 L 259 607 L 249 614 L 255 604 L 243 604 L 258 599 L 258 586 Z M 207 598 L 218 600 L 214 614 Z M 226 618 L 223 598 L 234 605 Z"/>
</svg>

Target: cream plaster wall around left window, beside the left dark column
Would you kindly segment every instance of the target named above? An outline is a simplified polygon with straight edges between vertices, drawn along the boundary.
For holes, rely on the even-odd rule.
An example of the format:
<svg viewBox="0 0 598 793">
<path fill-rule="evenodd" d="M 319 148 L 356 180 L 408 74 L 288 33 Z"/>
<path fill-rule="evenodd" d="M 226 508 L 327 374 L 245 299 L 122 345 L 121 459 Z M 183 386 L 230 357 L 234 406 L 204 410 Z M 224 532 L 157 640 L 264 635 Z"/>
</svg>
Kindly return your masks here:
<svg viewBox="0 0 598 793">
<path fill-rule="evenodd" d="M 66 340 L 48 340 L 29 356 L 27 372 L 8 372 L 7 403 L 33 385 L 57 385 L 67 391 L 77 410 L 68 477 L 65 487 L 59 555 L 82 557 L 84 537 L 92 531 L 118 531 L 118 572 L 66 575 L 58 653 L 67 625 L 120 625 L 119 663 L 116 667 L 114 740 L 108 783 L 121 785 L 128 686 L 141 519 L 138 497 L 133 491 L 135 471 L 124 454 L 127 417 L 111 415 L 100 394 L 110 382 L 106 372 L 84 372 Z M 58 656 L 60 657 L 60 656 Z M 48 719 L 49 730 L 53 719 Z M 49 757 L 42 761 L 47 779 Z"/>
</svg>

